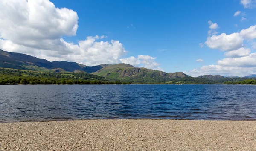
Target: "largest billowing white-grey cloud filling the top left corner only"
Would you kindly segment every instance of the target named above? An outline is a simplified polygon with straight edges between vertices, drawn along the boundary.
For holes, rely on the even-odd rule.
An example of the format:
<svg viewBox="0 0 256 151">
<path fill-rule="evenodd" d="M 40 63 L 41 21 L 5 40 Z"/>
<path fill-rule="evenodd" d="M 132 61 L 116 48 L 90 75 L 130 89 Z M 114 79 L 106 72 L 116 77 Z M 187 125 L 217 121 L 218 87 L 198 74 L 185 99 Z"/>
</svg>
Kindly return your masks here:
<svg viewBox="0 0 256 151">
<path fill-rule="evenodd" d="M 76 35 L 78 15 L 48 0 L 1 0 L 0 35 L 14 44 L 56 49 L 62 36 Z"/>
</svg>

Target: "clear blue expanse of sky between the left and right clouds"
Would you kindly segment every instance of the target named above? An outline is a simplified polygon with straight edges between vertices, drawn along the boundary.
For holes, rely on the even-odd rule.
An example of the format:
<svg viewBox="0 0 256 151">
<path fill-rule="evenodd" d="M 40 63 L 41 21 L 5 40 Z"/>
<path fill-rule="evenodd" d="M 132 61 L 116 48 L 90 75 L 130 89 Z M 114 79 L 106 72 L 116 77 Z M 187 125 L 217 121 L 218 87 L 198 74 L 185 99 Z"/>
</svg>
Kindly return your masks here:
<svg viewBox="0 0 256 151">
<path fill-rule="evenodd" d="M 218 23 L 221 33 L 236 32 L 254 25 L 256 21 L 255 10 L 244 9 L 239 0 L 52 2 L 57 7 L 73 9 L 79 15 L 77 36 L 69 40 L 107 35 L 108 40 L 115 39 L 124 44 L 128 56 L 143 54 L 157 57 L 156 61 L 166 72 L 191 70 L 203 64 L 215 64 L 224 58 L 224 52 L 198 45 L 206 41 L 208 20 Z M 246 12 L 248 20 L 241 22 L 241 17 L 234 17 L 237 10 Z M 204 63 L 197 63 L 198 58 L 202 58 Z"/>
</svg>

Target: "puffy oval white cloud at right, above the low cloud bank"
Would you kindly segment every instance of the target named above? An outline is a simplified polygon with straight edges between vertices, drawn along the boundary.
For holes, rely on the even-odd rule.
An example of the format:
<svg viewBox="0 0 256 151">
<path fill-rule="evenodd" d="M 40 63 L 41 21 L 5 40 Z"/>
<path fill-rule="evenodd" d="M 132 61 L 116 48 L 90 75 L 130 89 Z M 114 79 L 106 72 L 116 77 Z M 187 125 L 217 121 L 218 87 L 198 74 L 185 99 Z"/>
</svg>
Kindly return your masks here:
<svg viewBox="0 0 256 151">
<path fill-rule="evenodd" d="M 212 49 L 220 49 L 222 51 L 231 51 L 239 49 L 243 46 L 244 39 L 239 35 L 239 33 L 233 33 L 226 35 L 222 33 L 221 35 L 212 35 L 207 37 L 207 41 L 204 43 Z"/>
</svg>

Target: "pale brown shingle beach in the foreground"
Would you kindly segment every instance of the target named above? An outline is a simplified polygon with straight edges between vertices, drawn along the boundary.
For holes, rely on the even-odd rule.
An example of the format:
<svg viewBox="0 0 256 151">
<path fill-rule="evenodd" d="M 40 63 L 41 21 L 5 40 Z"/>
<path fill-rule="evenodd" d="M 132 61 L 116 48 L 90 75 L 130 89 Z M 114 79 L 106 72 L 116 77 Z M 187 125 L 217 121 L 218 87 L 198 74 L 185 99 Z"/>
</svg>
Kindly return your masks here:
<svg viewBox="0 0 256 151">
<path fill-rule="evenodd" d="M 256 121 L 0 123 L 2 150 L 256 150 Z"/>
</svg>

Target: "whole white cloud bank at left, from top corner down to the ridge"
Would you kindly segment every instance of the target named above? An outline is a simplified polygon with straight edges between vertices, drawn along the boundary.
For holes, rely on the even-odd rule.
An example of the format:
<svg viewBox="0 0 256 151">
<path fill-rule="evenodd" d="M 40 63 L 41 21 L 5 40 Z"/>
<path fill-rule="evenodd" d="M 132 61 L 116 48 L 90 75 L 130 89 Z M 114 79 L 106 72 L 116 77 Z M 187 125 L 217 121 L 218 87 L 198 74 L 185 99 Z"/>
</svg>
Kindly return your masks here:
<svg viewBox="0 0 256 151">
<path fill-rule="evenodd" d="M 126 54 L 119 41 L 101 41 L 104 35 L 78 44 L 65 41 L 64 36 L 76 35 L 78 15 L 49 0 L 0 0 L 0 10 L 0 49 L 85 65 L 119 63 Z"/>
</svg>

